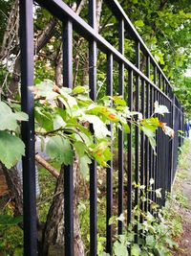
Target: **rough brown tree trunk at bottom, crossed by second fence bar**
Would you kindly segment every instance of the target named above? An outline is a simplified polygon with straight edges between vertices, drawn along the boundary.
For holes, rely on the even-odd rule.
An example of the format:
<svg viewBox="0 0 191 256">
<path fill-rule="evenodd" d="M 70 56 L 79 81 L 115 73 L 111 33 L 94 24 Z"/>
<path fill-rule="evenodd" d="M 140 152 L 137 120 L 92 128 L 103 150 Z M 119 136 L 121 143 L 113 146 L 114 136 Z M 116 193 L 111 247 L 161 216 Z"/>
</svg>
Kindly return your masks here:
<svg viewBox="0 0 191 256">
<path fill-rule="evenodd" d="M 43 234 L 42 256 L 63 256 L 64 254 L 64 166 L 61 168 L 54 192 L 53 203 L 47 217 Z M 84 255 L 77 211 L 79 170 L 74 162 L 74 256 Z"/>
</svg>

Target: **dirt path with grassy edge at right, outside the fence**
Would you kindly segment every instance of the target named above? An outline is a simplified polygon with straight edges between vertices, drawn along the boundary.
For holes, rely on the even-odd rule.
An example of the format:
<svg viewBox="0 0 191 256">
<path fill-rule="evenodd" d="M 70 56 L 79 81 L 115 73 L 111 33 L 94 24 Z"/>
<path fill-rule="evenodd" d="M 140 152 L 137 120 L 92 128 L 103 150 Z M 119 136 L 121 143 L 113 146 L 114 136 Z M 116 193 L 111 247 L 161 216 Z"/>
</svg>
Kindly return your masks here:
<svg viewBox="0 0 191 256">
<path fill-rule="evenodd" d="M 191 140 L 188 149 L 180 158 L 179 173 L 173 189 L 179 196 L 180 203 L 176 208 L 182 218 L 183 227 L 179 239 L 180 250 L 175 256 L 191 256 Z"/>
</svg>

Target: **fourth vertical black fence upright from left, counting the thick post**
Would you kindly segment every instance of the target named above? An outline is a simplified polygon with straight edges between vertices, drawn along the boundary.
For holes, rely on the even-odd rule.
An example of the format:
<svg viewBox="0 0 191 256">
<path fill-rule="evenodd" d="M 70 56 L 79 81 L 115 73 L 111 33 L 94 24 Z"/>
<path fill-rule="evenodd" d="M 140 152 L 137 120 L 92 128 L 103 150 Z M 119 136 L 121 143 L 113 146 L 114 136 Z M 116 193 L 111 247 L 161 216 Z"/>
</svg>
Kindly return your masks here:
<svg viewBox="0 0 191 256">
<path fill-rule="evenodd" d="M 113 96 L 113 55 L 107 56 L 107 95 Z M 112 131 L 112 124 L 108 126 Z M 113 146 L 111 146 L 113 148 Z M 113 149 L 111 149 L 113 151 Z M 113 161 L 107 168 L 107 207 L 106 207 L 106 252 L 112 253 L 112 225 L 109 224 L 113 213 Z"/>
</svg>

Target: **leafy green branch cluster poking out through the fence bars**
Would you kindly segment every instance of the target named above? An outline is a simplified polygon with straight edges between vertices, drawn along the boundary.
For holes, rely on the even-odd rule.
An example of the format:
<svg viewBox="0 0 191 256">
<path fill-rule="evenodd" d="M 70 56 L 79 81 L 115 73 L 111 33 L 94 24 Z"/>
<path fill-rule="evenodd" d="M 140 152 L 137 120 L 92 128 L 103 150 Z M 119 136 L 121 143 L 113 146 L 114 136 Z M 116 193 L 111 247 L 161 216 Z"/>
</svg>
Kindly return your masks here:
<svg viewBox="0 0 191 256">
<path fill-rule="evenodd" d="M 88 174 L 91 159 L 96 159 L 103 167 L 108 166 L 107 162 L 113 156 L 109 149 L 111 136 L 115 140 L 118 128 L 129 133 L 127 120 L 145 133 L 154 151 L 157 128 L 162 128 L 170 137 L 174 136 L 172 128 L 160 123 L 158 117 L 143 119 L 140 113 L 130 111 L 120 96 L 105 96 L 95 103 L 89 98 L 87 87 L 77 86 L 74 90 L 59 88 L 52 81 L 41 82 L 33 89 L 36 99 L 35 132 L 42 139 L 43 136 L 49 138 L 47 153 L 65 165 L 72 164 L 74 155 L 77 155 L 84 176 Z M 60 107 L 60 103 L 64 108 Z M 168 112 L 166 106 L 155 103 L 153 114 Z M 111 122 L 112 131 L 107 128 Z"/>
</svg>

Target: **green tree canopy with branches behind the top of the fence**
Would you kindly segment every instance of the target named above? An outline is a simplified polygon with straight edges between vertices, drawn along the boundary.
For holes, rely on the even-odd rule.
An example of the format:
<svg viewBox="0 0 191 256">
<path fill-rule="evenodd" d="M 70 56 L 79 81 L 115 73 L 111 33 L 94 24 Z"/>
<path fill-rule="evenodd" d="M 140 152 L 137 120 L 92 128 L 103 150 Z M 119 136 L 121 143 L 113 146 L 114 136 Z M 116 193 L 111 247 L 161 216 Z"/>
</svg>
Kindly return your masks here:
<svg viewBox="0 0 191 256">
<path fill-rule="evenodd" d="M 65 1 L 75 12 L 87 18 L 86 1 Z M 120 0 L 138 33 L 153 56 L 159 62 L 165 75 L 175 86 L 175 92 L 182 98 L 182 87 L 189 87 L 190 80 L 184 79 L 184 72 L 191 63 L 191 3 L 189 0 Z M 0 1 L 0 81 L 2 92 L 15 93 L 19 82 L 19 29 L 18 29 L 18 0 Z M 61 26 L 53 16 L 36 6 L 34 14 L 35 40 L 35 81 L 43 79 L 61 82 Z M 97 1 L 97 27 L 99 33 L 112 44 L 117 45 L 117 23 L 112 12 L 107 9 L 104 1 Z M 46 36 L 47 35 L 47 36 Z M 127 58 L 135 61 L 135 42 L 125 35 L 125 52 Z M 79 58 L 80 53 L 80 58 Z M 87 83 L 87 43 L 79 35 L 74 35 L 74 66 L 75 85 Z M 104 73 L 102 60 L 98 58 L 98 76 L 100 82 Z M 142 65 L 143 65 L 142 59 Z M 143 68 L 142 68 L 143 70 Z M 184 82 L 185 81 L 185 82 Z M 83 84 L 82 84 L 83 83 Z M 181 88 L 181 89 L 180 89 Z M 10 94 L 9 94 L 10 95 Z M 16 94 L 14 94 L 14 97 Z M 186 97 L 186 99 L 189 97 Z M 183 97 L 184 99 L 184 97 Z M 186 110 L 190 111 L 189 104 L 183 100 Z"/>
</svg>

